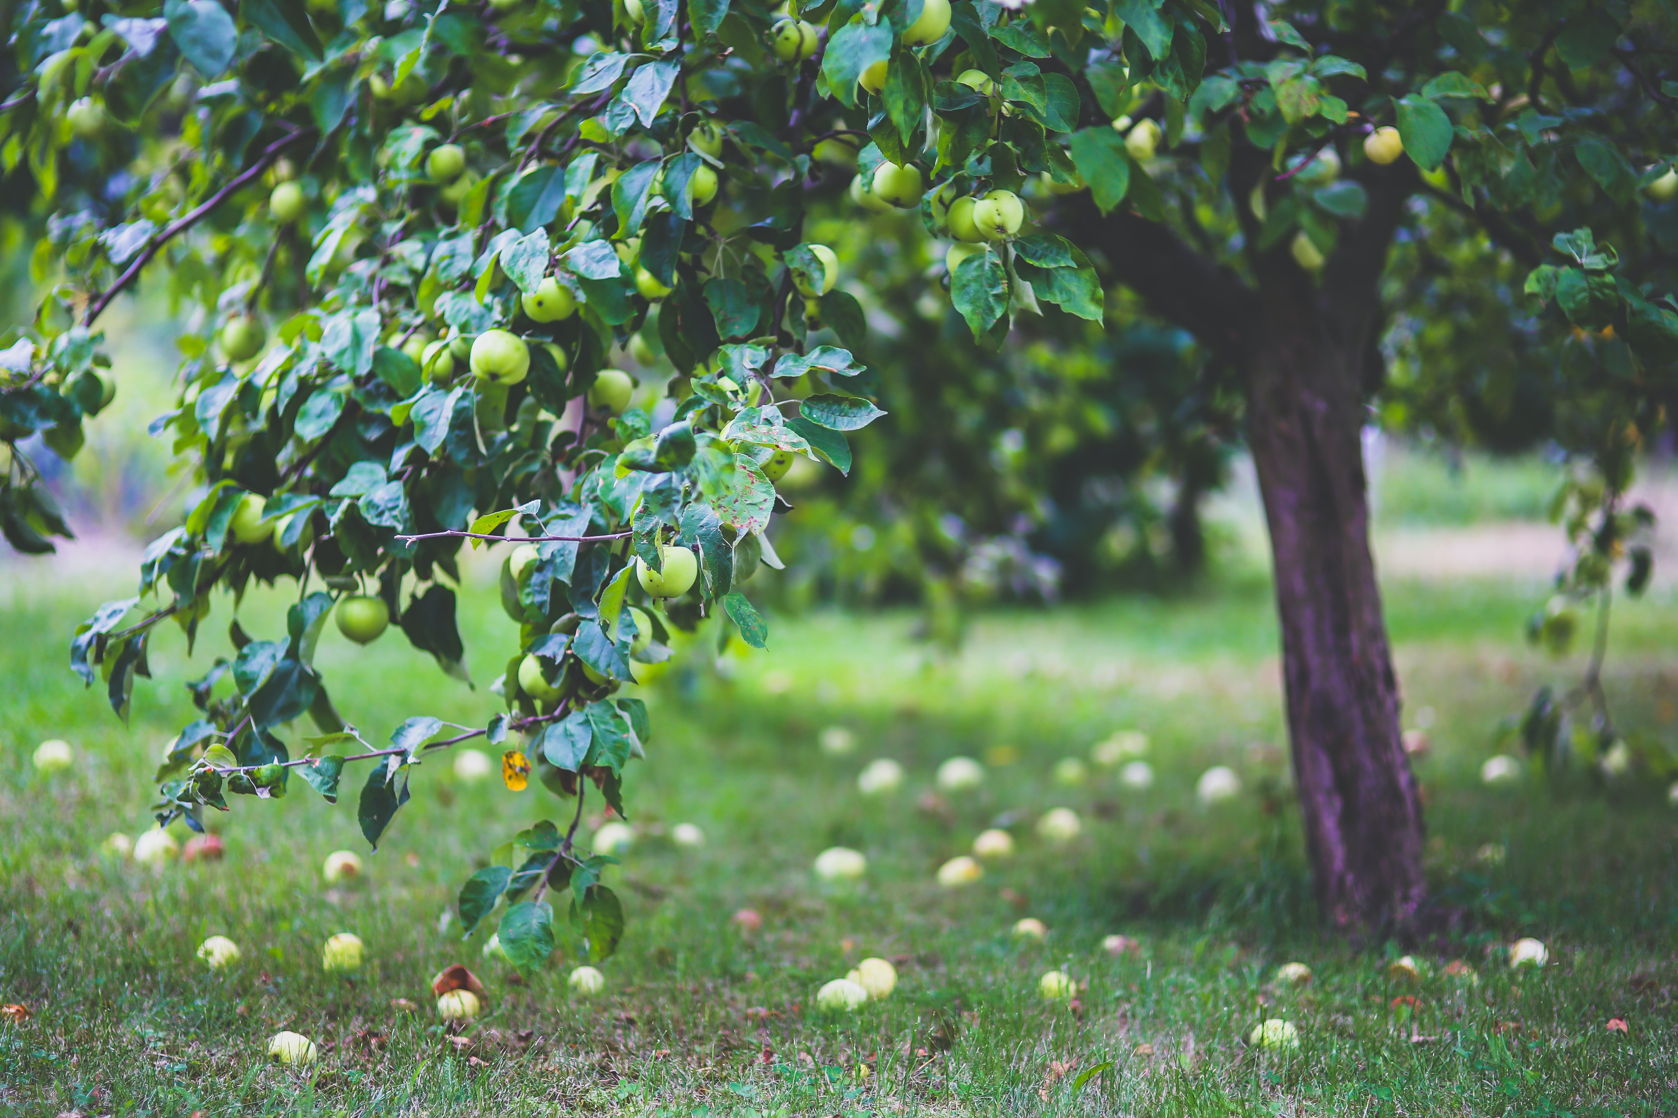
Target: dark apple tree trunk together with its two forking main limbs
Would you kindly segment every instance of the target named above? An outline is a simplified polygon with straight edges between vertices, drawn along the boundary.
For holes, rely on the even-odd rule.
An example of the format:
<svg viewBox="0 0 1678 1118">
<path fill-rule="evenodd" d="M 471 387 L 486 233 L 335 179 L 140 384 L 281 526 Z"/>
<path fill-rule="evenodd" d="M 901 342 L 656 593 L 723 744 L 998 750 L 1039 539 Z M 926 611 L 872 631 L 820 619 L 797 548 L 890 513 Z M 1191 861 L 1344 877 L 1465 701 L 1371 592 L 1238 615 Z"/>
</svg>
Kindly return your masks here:
<svg viewBox="0 0 1678 1118">
<path fill-rule="evenodd" d="M 1086 243 L 1094 231 L 1111 278 L 1242 377 L 1275 562 L 1305 848 L 1324 920 L 1358 934 L 1408 927 L 1426 898 L 1421 805 L 1399 734 L 1361 451 L 1381 322 L 1376 283 L 1413 181 L 1389 171 L 1364 184 L 1369 213 L 1321 280 L 1294 265 L 1285 241 L 1252 253 L 1243 280 L 1136 215 L 1102 218 L 1087 201 L 1066 211 Z M 1237 184 L 1235 196 L 1245 194 Z"/>
</svg>

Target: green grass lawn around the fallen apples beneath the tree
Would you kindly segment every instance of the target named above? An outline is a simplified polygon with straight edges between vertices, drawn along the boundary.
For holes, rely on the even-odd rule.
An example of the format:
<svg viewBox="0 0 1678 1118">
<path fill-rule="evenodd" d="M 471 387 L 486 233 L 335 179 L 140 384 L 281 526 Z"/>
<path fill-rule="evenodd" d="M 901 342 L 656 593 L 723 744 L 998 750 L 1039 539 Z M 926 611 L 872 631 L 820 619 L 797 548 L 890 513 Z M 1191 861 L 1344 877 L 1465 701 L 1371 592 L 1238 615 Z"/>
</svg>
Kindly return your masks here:
<svg viewBox="0 0 1678 1118">
<path fill-rule="evenodd" d="M 483 686 L 513 632 L 482 573 L 463 608 L 475 692 L 396 634 L 367 650 L 322 640 L 334 696 L 367 734 L 413 712 L 482 724 L 493 711 Z M 673 674 L 651 696 L 649 759 L 629 781 L 641 838 L 609 878 L 629 934 L 602 967 L 606 994 L 582 1001 L 564 981 L 574 942 L 522 984 L 480 960 L 483 932 L 461 944 L 441 920 L 493 845 L 567 811 L 535 786 L 461 786 L 446 763 L 423 766 L 354 888 L 319 877 L 331 850 L 364 850 L 352 796 L 329 806 L 300 783 L 282 803 L 240 800 L 216 816 L 220 863 L 154 875 L 97 853 L 111 830 L 144 825 L 151 766 L 190 716 L 181 684 L 216 642 L 188 660 L 173 630 L 159 640 L 124 729 L 65 667 L 67 634 L 99 590 L 7 577 L 0 1002 L 34 1016 L 0 1024 L 0 1115 L 1678 1111 L 1678 813 L 1665 789 L 1477 781 L 1500 719 L 1577 669 L 1519 644 L 1532 587 L 1388 587 L 1406 719 L 1423 707 L 1433 719 L 1420 763 L 1430 875 L 1463 910 L 1457 935 L 1420 945 L 1435 969 L 1420 986 L 1388 977 L 1399 945 L 1317 932 L 1279 751 L 1275 622 L 1252 583 L 990 613 L 953 662 L 908 639 L 908 615 L 774 617 L 772 655 Z M 263 632 L 280 605 L 258 595 L 242 620 Z M 218 600 L 211 629 L 227 608 Z M 1626 610 L 1609 679 L 1621 717 L 1666 741 L 1675 620 L 1670 598 Z M 817 749 L 829 724 L 854 731 L 856 754 Z M 1151 791 L 1121 791 L 1101 771 L 1082 788 L 1052 783 L 1059 758 L 1128 726 L 1151 734 Z M 29 764 L 49 736 L 82 758 L 50 781 Z M 1002 746 L 1019 759 L 993 766 L 982 793 L 921 801 L 938 761 Z M 874 756 L 906 766 L 896 796 L 857 795 Z M 1237 768 L 1242 798 L 1198 808 L 1208 764 Z M 1057 805 L 1086 823 L 1066 850 L 1030 826 Z M 1019 840 L 1014 862 L 940 890 L 933 870 L 998 820 Z M 663 840 L 678 821 L 708 845 Z M 812 880 L 812 858 L 834 843 L 868 855 L 861 887 Z M 1480 865 L 1485 843 L 1505 845 L 1507 862 Z M 740 907 L 763 915 L 758 935 L 730 924 Z M 1045 944 L 1010 940 L 1022 915 L 1049 925 Z M 319 945 L 339 930 L 369 947 L 354 981 L 320 972 Z M 1141 952 L 1109 959 L 1099 942 L 1113 932 Z M 238 942 L 242 964 L 206 972 L 193 952 L 208 934 Z M 1544 939 L 1556 965 L 1512 976 L 1500 949 L 1517 935 Z M 874 954 L 898 960 L 898 992 L 844 1021 L 817 1016 L 814 991 Z M 1316 981 L 1274 987 L 1289 959 Z M 1478 982 L 1440 976 L 1451 959 Z M 430 1012 L 430 977 L 456 960 L 492 992 L 466 1046 Z M 1076 1009 L 1035 996 L 1060 964 L 1084 984 Z M 1408 1022 L 1391 1007 L 1406 996 Z M 1243 1044 L 1272 1016 L 1299 1026 L 1297 1053 Z M 1609 1017 L 1629 1033 L 1606 1031 Z M 312 1076 L 262 1059 L 280 1027 L 322 1046 Z M 1074 1059 L 1055 1078 L 1052 1064 Z"/>
</svg>

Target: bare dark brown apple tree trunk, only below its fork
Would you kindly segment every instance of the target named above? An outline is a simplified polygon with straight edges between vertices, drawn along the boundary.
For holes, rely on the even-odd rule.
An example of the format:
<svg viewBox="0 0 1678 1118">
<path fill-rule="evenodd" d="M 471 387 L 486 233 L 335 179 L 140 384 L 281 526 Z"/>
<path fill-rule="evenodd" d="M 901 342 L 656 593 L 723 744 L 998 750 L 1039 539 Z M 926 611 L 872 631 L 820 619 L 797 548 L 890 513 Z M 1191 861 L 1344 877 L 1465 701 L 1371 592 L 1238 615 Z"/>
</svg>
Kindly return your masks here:
<svg viewBox="0 0 1678 1118">
<path fill-rule="evenodd" d="M 1421 805 L 1369 553 L 1363 345 L 1295 322 L 1247 362 L 1294 779 L 1322 915 L 1342 930 L 1410 925 L 1426 895 Z"/>
</svg>

